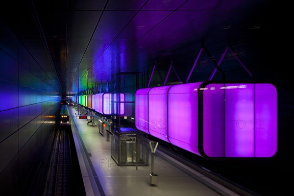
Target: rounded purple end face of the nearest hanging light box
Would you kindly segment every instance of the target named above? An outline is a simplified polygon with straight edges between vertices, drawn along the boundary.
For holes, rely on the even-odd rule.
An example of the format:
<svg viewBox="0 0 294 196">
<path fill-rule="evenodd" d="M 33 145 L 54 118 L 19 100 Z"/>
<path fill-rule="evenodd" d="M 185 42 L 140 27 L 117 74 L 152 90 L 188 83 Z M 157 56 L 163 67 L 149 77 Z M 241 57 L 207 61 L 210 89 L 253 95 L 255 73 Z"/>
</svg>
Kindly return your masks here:
<svg viewBox="0 0 294 196">
<path fill-rule="evenodd" d="M 277 92 L 271 84 L 208 84 L 203 151 L 208 157 L 270 157 L 277 150 Z"/>
</svg>

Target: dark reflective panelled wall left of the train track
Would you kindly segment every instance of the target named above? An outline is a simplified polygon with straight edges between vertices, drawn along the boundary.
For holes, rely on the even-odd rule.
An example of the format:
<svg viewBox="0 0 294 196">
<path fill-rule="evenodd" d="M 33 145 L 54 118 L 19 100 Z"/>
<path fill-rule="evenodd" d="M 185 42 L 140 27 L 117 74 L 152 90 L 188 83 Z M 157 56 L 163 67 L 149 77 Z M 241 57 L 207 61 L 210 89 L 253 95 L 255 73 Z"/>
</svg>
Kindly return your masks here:
<svg viewBox="0 0 294 196">
<path fill-rule="evenodd" d="M 51 141 L 59 101 L 46 70 L 0 22 L 0 195 L 26 191 Z"/>
</svg>

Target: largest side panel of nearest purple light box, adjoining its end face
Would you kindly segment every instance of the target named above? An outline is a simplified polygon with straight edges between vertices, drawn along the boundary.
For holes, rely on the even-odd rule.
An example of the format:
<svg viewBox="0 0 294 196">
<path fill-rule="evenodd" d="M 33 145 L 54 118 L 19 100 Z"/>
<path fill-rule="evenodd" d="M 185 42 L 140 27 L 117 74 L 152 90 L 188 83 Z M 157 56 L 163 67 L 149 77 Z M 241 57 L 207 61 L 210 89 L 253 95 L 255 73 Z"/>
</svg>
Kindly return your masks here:
<svg viewBox="0 0 294 196">
<path fill-rule="evenodd" d="M 201 83 L 173 85 L 168 92 L 169 141 L 198 155 L 197 100 Z"/>
</svg>

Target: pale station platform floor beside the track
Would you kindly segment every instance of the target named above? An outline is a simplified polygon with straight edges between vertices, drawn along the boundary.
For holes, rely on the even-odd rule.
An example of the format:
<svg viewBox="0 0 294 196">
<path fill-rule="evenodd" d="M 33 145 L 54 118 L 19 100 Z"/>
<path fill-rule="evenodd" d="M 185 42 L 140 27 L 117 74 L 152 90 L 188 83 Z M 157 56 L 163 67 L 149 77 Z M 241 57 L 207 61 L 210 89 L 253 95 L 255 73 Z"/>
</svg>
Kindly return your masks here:
<svg viewBox="0 0 294 196">
<path fill-rule="evenodd" d="M 158 184 L 152 186 L 151 153 L 149 166 L 139 166 L 138 170 L 133 166 L 117 166 L 110 155 L 111 142 L 99 134 L 98 127 L 87 125 L 86 119 L 75 119 L 77 111 L 73 107 L 70 112 L 87 196 L 238 196 L 160 150 L 154 156 Z"/>
</svg>

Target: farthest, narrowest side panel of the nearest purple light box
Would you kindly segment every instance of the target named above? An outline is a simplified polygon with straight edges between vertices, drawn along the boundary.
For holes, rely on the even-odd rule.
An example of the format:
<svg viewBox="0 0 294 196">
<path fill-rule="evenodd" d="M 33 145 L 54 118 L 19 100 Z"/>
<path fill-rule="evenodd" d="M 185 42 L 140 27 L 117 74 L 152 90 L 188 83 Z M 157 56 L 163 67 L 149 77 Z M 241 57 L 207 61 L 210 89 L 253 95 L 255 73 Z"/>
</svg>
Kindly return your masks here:
<svg viewBox="0 0 294 196">
<path fill-rule="evenodd" d="M 135 94 L 135 125 L 136 128 L 149 133 L 148 131 L 148 91 L 151 88 L 139 89 Z"/>
</svg>

